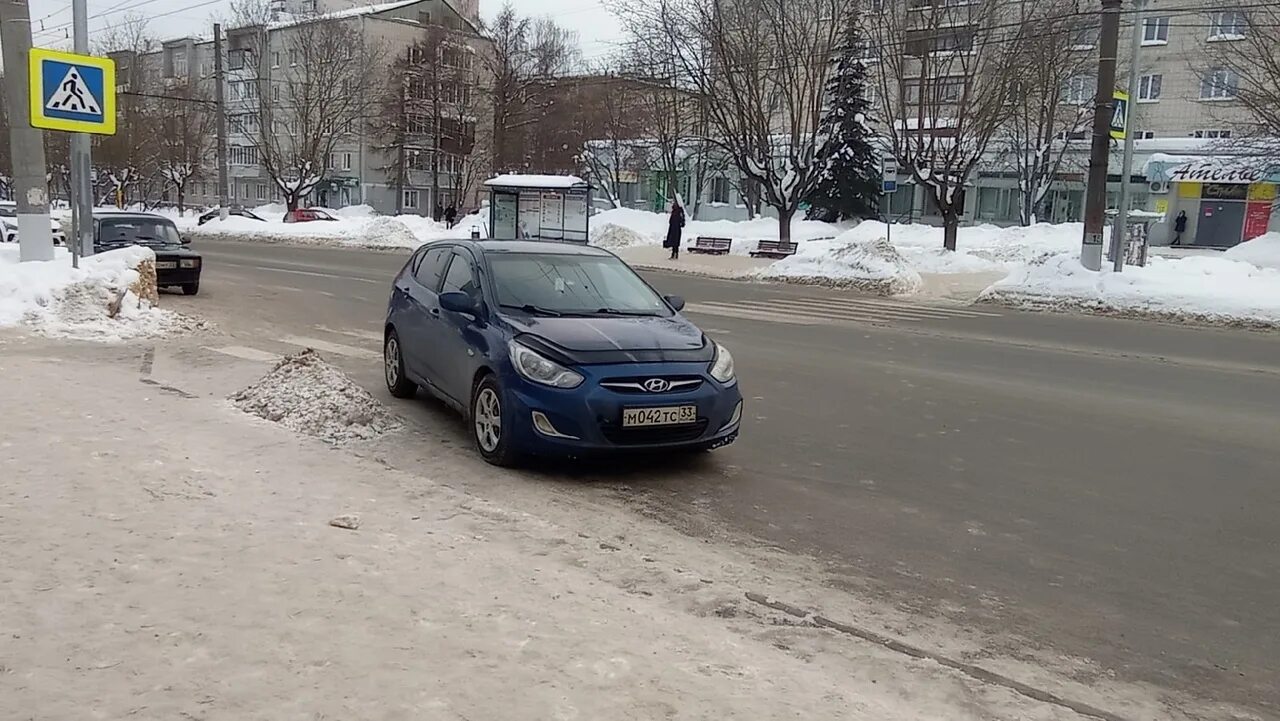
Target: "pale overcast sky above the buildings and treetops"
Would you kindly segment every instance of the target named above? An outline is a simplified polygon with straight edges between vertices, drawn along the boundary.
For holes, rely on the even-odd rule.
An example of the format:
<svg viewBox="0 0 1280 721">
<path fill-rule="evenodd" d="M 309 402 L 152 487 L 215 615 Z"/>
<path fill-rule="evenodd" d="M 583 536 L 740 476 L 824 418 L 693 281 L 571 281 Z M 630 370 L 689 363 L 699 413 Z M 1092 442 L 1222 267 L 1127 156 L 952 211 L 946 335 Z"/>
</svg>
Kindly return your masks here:
<svg viewBox="0 0 1280 721">
<path fill-rule="evenodd" d="M 480 0 L 480 13 L 492 18 L 504 0 Z M 621 31 L 617 19 L 602 0 L 511 0 L 526 15 L 552 15 L 556 22 L 577 31 L 588 59 L 607 55 Z M 35 44 L 49 47 L 70 46 L 70 0 L 28 0 Z M 164 40 L 187 35 L 207 35 L 214 19 L 225 17 L 230 0 L 88 0 L 90 41 L 95 31 L 131 14 L 148 19 L 148 29 Z"/>
</svg>

